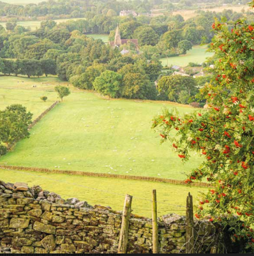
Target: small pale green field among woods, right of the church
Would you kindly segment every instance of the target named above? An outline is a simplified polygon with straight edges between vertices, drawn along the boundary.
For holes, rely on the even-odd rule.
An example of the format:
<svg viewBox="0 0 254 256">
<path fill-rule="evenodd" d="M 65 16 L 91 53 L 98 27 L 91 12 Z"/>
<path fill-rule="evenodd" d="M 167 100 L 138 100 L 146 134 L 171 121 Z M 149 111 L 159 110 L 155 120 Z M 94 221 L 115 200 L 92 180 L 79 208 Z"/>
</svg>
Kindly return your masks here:
<svg viewBox="0 0 254 256">
<path fill-rule="evenodd" d="M 185 67 L 188 66 L 190 62 L 198 64 L 204 63 L 207 57 L 212 56 L 213 52 L 207 52 L 207 46 L 196 45 L 185 55 L 163 58 L 161 62 L 163 66 L 177 65 Z"/>
</svg>

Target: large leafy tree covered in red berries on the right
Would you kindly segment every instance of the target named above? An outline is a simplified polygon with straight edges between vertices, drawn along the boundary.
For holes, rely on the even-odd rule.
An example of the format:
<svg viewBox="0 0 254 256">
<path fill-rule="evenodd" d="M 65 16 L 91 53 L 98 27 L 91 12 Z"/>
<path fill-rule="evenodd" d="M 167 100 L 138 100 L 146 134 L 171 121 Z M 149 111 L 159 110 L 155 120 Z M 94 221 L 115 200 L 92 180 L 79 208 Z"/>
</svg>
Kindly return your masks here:
<svg viewBox="0 0 254 256">
<path fill-rule="evenodd" d="M 216 22 L 213 28 L 216 68 L 200 91 L 207 109 L 185 116 L 165 110 L 153 127 L 184 161 L 191 151 L 204 156 L 186 183 L 207 179 L 214 188 L 202 196 L 195 216 L 229 222 L 234 227 L 232 239 L 246 237 L 253 245 L 254 26 Z"/>
</svg>

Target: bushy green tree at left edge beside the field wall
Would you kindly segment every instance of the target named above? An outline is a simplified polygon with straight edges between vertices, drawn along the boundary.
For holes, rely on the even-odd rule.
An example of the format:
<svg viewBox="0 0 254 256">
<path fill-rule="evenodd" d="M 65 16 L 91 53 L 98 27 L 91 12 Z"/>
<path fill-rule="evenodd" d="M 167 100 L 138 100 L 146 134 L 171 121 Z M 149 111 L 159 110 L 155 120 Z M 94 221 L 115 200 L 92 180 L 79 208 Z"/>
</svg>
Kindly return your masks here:
<svg viewBox="0 0 254 256">
<path fill-rule="evenodd" d="M 27 112 L 22 105 L 11 105 L 0 111 L 0 141 L 8 148 L 11 144 L 29 137 L 29 125 L 33 114 Z"/>
</svg>

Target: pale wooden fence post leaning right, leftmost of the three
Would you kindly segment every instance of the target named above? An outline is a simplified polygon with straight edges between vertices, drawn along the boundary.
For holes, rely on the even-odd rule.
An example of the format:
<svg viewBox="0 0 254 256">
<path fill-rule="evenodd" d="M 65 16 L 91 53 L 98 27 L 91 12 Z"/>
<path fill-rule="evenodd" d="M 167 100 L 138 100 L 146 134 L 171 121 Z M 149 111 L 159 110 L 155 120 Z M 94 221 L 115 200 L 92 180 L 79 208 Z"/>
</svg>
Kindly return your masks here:
<svg viewBox="0 0 254 256">
<path fill-rule="evenodd" d="M 119 246 L 118 246 L 118 253 L 121 253 L 121 254 L 126 254 L 127 252 L 128 232 L 129 232 L 130 215 L 131 215 L 131 202 L 132 202 L 132 197 L 130 195 L 126 195 L 124 208 L 123 208 L 122 227 L 121 227 Z"/>
</svg>

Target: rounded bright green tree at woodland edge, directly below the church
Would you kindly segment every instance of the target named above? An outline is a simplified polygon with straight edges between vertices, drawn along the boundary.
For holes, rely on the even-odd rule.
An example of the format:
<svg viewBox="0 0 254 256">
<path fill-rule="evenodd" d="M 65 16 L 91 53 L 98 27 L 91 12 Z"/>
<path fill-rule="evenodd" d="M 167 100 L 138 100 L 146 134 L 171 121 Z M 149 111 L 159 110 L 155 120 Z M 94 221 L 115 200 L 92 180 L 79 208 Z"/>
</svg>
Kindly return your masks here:
<svg viewBox="0 0 254 256">
<path fill-rule="evenodd" d="M 108 99 L 117 98 L 121 94 L 122 76 L 116 72 L 107 70 L 96 77 L 93 86 L 99 93 L 108 96 Z"/>
</svg>

